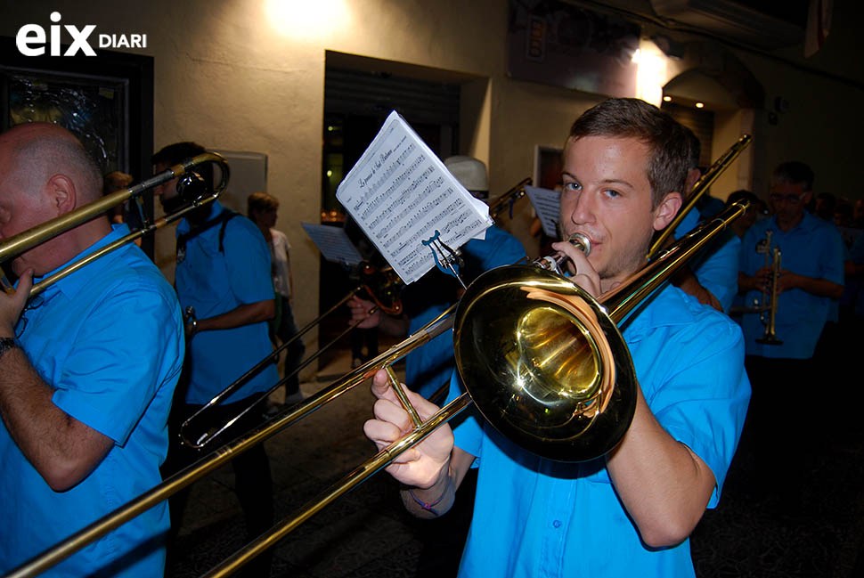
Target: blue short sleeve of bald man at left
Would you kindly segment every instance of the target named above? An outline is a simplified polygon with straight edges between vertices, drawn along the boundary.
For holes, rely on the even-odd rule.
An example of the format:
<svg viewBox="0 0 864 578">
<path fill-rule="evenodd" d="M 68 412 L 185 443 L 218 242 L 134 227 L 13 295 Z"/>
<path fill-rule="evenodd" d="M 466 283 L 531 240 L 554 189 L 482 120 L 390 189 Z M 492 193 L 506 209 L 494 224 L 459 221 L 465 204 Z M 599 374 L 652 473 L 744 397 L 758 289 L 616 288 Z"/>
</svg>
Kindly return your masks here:
<svg viewBox="0 0 864 578">
<path fill-rule="evenodd" d="M 159 387 L 179 376 L 179 305 L 167 291 L 126 280 L 99 297 L 80 328 L 69 336 L 74 346 L 52 401 L 122 446 Z"/>
</svg>

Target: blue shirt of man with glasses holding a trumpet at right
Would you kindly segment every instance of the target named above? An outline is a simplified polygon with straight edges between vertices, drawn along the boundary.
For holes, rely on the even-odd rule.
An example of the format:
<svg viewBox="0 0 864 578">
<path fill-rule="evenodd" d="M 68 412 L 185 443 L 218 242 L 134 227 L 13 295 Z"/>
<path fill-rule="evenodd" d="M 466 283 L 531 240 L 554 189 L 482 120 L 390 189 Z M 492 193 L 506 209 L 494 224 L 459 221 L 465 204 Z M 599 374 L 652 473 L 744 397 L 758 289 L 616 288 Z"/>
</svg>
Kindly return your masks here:
<svg viewBox="0 0 864 578">
<path fill-rule="evenodd" d="M 765 247 L 765 232 L 771 231 L 771 247 Z M 826 279 L 838 284 L 844 282 L 843 240 L 834 224 L 804 213 L 801 223 L 789 232 L 777 225 L 777 217 L 757 221 L 745 233 L 741 244 L 741 272 L 753 276 L 765 266 L 765 251 L 770 255 L 780 248 L 780 268 L 813 279 Z M 769 259 L 770 261 L 770 259 Z M 762 302 L 762 292 L 748 291 L 745 305 Z M 777 302 L 775 332 L 782 345 L 769 346 L 756 343 L 765 333 L 759 313 L 742 316 L 748 355 L 770 358 L 809 359 L 831 307 L 829 297 L 818 297 L 803 289 L 789 289 L 781 293 Z M 766 317 L 767 317 L 766 313 Z"/>
</svg>

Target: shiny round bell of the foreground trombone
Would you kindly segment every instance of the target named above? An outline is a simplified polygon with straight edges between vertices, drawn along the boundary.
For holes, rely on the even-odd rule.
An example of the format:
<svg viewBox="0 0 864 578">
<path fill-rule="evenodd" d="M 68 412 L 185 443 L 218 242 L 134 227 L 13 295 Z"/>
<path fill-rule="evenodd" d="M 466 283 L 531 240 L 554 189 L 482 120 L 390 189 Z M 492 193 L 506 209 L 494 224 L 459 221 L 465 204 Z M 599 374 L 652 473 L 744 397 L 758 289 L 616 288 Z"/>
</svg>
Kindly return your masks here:
<svg viewBox="0 0 864 578">
<path fill-rule="evenodd" d="M 482 274 L 456 309 L 453 344 L 477 409 L 529 452 L 592 460 L 630 427 L 636 377 L 624 338 L 595 299 L 555 273 Z"/>
</svg>

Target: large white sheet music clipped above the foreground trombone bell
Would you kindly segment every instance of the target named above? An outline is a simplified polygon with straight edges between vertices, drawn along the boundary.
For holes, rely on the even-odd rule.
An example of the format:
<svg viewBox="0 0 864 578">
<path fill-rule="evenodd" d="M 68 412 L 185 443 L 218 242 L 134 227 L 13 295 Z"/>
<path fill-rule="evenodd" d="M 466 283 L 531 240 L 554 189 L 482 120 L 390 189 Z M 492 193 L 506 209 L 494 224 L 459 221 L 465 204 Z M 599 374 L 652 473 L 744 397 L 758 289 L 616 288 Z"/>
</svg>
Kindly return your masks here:
<svg viewBox="0 0 864 578">
<path fill-rule="evenodd" d="M 450 174 L 395 110 L 363 157 L 339 184 L 336 198 L 405 283 L 435 266 L 422 244 L 436 231 L 452 249 L 483 238 L 489 208 Z"/>
</svg>

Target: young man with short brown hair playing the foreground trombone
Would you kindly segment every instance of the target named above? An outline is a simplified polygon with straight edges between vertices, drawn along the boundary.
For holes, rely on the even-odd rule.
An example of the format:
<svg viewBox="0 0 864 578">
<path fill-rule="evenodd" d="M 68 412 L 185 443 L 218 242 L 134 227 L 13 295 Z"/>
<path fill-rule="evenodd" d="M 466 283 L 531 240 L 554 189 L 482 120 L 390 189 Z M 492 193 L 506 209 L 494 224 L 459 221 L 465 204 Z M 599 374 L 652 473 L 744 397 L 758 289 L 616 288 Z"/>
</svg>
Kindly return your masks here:
<svg viewBox="0 0 864 578">
<path fill-rule="evenodd" d="M 560 223 L 591 240 L 556 249 L 592 296 L 645 265 L 654 232 L 681 207 L 688 144 L 645 102 L 612 99 L 571 129 Z M 639 386 L 623 440 L 582 463 L 520 449 L 476 417 L 441 427 L 387 470 L 420 517 L 443 514 L 477 460 L 477 499 L 461 576 L 693 575 L 689 533 L 716 505 L 744 423 L 749 384 L 738 326 L 670 286 L 623 323 Z M 411 384 L 408 384 L 409 387 Z M 461 388 L 452 380 L 451 399 Z M 366 435 L 386 447 L 411 429 L 382 371 Z M 411 400 L 427 419 L 436 407 Z"/>
</svg>

